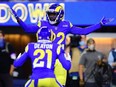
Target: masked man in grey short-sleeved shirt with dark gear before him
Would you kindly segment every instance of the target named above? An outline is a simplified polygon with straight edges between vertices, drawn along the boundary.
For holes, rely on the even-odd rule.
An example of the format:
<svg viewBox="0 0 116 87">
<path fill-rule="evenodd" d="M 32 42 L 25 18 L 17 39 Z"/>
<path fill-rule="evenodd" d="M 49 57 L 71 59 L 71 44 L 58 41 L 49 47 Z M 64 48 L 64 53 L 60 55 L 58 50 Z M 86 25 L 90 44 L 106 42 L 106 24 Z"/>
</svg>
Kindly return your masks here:
<svg viewBox="0 0 116 87">
<path fill-rule="evenodd" d="M 87 46 L 88 49 L 82 53 L 79 62 L 80 85 L 108 87 L 111 80 L 111 70 L 108 64 L 102 61 L 104 55 L 95 49 L 95 41 L 92 38 L 87 40 Z"/>
</svg>

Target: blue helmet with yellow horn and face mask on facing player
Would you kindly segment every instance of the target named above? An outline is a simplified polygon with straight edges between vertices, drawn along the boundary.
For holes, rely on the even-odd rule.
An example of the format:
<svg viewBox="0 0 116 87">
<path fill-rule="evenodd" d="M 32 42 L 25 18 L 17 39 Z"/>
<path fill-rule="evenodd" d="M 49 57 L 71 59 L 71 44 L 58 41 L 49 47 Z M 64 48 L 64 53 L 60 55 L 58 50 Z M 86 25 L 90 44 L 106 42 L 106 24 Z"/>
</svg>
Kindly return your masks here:
<svg viewBox="0 0 116 87">
<path fill-rule="evenodd" d="M 50 24 L 57 24 L 63 20 L 64 10 L 59 4 L 51 4 L 46 11 L 46 17 Z"/>
</svg>

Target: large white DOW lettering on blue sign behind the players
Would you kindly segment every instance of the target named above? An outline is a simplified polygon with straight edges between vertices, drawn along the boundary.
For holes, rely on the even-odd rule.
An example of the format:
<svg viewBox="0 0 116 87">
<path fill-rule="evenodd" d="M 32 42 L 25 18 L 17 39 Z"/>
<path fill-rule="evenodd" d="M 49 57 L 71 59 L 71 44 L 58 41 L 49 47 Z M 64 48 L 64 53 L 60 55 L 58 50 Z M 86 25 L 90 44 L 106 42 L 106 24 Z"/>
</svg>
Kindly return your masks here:
<svg viewBox="0 0 116 87">
<path fill-rule="evenodd" d="M 0 3 L 0 23 L 7 23 L 13 21 L 17 23 L 16 19 L 9 12 L 7 8 L 12 8 L 17 15 L 27 23 L 37 23 L 39 20 L 46 20 L 46 10 L 50 3 Z M 64 3 L 60 3 L 64 7 Z"/>
</svg>

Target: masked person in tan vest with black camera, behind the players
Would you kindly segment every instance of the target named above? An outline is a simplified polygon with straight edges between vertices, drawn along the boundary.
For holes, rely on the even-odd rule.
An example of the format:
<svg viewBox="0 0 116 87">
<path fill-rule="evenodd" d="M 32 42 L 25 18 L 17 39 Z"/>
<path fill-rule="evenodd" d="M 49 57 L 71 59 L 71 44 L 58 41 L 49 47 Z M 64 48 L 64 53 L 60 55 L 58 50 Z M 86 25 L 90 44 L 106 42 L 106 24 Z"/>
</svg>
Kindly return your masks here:
<svg viewBox="0 0 116 87">
<path fill-rule="evenodd" d="M 68 84 L 66 87 L 79 87 L 78 65 L 80 55 L 86 48 L 86 36 L 73 36 L 71 39 L 72 66 L 69 70 Z"/>
</svg>

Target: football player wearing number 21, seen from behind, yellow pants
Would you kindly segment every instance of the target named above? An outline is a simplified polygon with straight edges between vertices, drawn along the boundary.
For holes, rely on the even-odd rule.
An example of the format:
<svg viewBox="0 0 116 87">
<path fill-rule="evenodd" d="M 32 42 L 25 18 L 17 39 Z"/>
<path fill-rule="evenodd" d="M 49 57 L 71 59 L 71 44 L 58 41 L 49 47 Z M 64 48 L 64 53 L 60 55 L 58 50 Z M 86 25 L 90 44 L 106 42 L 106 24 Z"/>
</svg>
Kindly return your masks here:
<svg viewBox="0 0 116 87">
<path fill-rule="evenodd" d="M 58 58 L 62 66 L 69 70 L 71 58 L 69 53 L 64 52 L 61 45 L 50 41 L 50 36 L 51 32 L 48 28 L 40 28 L 37 32 L 38 41 L 29 43 L 25 52 L 14 61 L 14 66 L 19 67 L 31 58 L 32 75 L 25 87 L 62 87 L 55 78 L 55 61 Z"/>
</svg>

